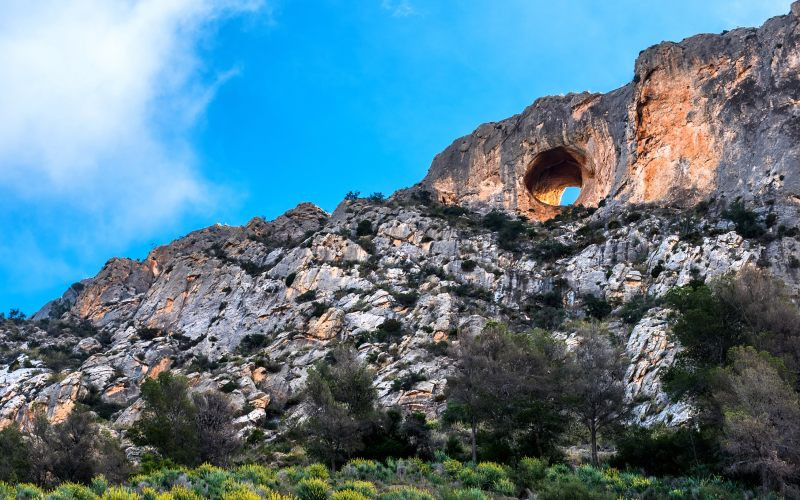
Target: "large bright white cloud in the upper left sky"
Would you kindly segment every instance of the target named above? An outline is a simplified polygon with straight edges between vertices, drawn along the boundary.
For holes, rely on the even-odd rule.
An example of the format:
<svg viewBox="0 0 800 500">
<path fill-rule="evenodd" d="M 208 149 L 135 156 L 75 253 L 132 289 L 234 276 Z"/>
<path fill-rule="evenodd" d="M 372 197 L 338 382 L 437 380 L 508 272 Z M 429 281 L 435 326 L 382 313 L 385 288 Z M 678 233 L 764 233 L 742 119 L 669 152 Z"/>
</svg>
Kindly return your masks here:
<svg viewBox="0 0 800 500">
<path fill-rule="evenodd" d="M 7 0 L 0 14 L 0 188 L 147 234 L 213 202 L 187 133 L 219 84 L 198 44 L 261 0 Z"/>
</svg>

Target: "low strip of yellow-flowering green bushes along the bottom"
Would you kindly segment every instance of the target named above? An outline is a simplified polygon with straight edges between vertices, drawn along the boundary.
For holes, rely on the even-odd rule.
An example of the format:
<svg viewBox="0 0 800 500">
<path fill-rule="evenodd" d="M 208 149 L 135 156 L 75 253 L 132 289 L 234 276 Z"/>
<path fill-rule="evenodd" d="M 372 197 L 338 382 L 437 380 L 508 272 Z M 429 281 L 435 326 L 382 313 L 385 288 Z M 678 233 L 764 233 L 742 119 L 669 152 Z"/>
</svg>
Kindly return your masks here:
<svg viewBox="0 0 800 500">
<path fill-rule="evenodd" d="M 490 500 L 534 496 L 551 499 L 749 498 L 752 492 L 718 478 L 655 479 L 614 468 L 565 465 L 523 458 L 514 467 L 477 465 L 440 456 L 432 462 L 354 459 L 338 472 L 322 464 L 271 469 L 163 467 L 112 484 L 102 476 L 43 491 L 32 484 L 0 482 L 0 498 L 199 500 Z M 769 497 L 764 497 L 769 498 Z"/>
</svg>

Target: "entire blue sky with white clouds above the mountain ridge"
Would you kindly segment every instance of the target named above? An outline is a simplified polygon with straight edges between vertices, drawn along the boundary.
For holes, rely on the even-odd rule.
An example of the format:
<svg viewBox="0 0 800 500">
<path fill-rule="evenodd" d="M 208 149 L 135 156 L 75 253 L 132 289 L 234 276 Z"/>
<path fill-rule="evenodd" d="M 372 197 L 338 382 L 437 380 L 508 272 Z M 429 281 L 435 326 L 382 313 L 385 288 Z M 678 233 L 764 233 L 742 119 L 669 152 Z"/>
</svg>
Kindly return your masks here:
<svg viewBox="0 0 800 500">
<path fill-rule="evenodd" d="M 788 0 L 7 0 L 0 310 L 112 256 L 392 191 L 482 122 Z"/>
</svg>

